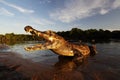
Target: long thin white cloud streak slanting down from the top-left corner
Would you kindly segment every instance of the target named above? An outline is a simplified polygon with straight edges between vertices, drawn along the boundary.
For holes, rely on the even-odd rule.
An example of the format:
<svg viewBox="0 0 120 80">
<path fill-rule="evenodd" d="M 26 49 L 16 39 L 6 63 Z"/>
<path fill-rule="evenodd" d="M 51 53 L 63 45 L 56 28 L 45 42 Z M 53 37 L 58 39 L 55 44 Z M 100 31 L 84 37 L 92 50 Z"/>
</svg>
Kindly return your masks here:
<svg viewBox="0 0 120 80">
<path fill-rule="evenodd" d="M 16 10 L 18 10 L 19 12 L 22 12 L 22 13 L 34 13 L 34 10 L 25 9 L 25 8 L 20 7 L 20 6 L 17 6 L 17 5 L 15 5 L 15 4 L 8 3 L 8 2 L 6 2 L 5 0 L 0 0 L 0 2 L 3 3 L 3 4 L 5 4 L 5 5 L 7 5 L 7 6 L 9 6 L 9 7 L 14 8 L 14 9 L 16 9 Z"/>
</svg>

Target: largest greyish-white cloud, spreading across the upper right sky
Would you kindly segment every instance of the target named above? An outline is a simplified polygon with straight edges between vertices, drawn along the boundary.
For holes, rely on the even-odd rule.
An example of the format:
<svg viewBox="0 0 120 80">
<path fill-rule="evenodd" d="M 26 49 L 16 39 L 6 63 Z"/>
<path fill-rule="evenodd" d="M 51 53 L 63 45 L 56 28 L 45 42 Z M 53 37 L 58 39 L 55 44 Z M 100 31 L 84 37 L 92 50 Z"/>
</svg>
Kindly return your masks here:
<svg viewBox="0 0 120 80">
<path fill-rule="evenodd" d="M 118 7 L 119 0 L 66 0 L 64 8 L 56 9 L 50 17 L 69 23 L 95 14 L 104 15 Z"/>
</svg>

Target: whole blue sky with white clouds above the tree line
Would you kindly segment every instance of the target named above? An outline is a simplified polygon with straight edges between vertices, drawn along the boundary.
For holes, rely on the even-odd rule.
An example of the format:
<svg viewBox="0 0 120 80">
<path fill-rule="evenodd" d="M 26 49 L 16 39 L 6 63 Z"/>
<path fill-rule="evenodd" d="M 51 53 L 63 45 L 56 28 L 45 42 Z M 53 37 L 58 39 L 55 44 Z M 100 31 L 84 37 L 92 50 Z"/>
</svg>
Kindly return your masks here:
<svg viewBox="0 0 120 80">
<path fill-rule="evenodd" d="M 120 30 L 120 0 L 0 0 L 0 34 L 74 27 Z"/>
</svg>

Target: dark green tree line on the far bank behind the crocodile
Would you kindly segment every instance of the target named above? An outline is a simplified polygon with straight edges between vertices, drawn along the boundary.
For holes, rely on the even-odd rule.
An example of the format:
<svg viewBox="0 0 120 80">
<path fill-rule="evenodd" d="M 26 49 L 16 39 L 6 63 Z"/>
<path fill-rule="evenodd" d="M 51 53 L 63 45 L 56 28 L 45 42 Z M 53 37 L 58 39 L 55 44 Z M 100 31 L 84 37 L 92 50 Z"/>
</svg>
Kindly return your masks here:
<svg viewBox="0 0 120 80">
<path fill-rule="evenodd" d="M 110 41 L 120 40 L 120 30 L 103 30 L 103 29 L 88 29 L 81 30 L 79 28 L 72 28 L 70 31 L 56 32 L 58 35 L 62 36 L 66 40 L 82 40 L 86 42 L 91 42 L 91 40 L 99 41 Z M 6 33 L 0 34 L 0 43 L 12 44 L 17 41 L 40 41 L 43 40 L 41 37 L 32 36 L 29 34 L 15 34 Z"/>
</svg>

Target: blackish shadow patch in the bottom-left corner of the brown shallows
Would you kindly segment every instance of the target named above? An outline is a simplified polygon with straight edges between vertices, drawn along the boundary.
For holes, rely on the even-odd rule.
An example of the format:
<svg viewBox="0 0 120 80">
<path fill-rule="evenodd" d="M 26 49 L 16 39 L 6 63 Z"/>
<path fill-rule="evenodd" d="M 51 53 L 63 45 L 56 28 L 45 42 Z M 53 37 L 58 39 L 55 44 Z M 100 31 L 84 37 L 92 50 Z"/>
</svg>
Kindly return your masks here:
<svg viewBox="0 0 120 80">
<path fill-rule="evenodd" d="M 0 64 L 0 80 L 29 80 L 20 72 L 15 71 L 19 66 L 9 68 L 3 64 Z"/>
</svg>

